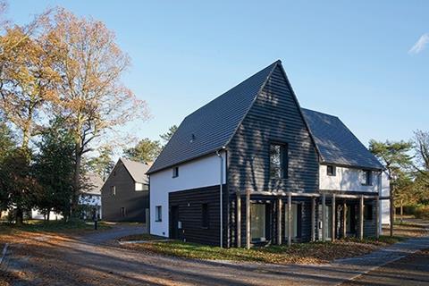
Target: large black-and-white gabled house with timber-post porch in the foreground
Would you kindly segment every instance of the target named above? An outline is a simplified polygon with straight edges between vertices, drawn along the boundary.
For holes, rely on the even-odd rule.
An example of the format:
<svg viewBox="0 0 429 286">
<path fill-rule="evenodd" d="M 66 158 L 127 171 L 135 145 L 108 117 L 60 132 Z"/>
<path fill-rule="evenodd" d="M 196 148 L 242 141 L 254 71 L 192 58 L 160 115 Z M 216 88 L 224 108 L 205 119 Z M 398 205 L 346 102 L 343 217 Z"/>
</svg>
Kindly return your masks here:
<svg viewBox="0 0 429 286">
<path fill-rule="evenodd" d="M 377 236 L 383 165 L 277 61 L 189 114 L 147 175 L 150 232 L 223 247 Z"/>
</svg>

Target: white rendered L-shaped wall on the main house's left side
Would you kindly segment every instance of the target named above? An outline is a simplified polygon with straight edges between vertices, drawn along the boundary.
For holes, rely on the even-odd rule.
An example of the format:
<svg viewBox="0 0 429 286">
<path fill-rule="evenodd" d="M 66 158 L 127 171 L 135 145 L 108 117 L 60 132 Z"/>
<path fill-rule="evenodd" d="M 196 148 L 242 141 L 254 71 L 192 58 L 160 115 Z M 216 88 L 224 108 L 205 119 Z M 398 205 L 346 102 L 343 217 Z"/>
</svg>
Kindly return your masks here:
<svg viewBox="0 0 429 286">
<path fill-rule="evenodd" d="M 223 157 L 223 184 L 225 183 L 225 153 Z M 217 155 L 205 156 L 189 163 L 176 165 L 179 176 L 172 178 L 172 168 L 150 175 L 150 233 L 169 236 L 168 194 L 184 189 L 197 189 L 219 185 L 221 159 Z M 155 221 L 156 206 L 162 206 L 162 222 Z"/>
</svg>

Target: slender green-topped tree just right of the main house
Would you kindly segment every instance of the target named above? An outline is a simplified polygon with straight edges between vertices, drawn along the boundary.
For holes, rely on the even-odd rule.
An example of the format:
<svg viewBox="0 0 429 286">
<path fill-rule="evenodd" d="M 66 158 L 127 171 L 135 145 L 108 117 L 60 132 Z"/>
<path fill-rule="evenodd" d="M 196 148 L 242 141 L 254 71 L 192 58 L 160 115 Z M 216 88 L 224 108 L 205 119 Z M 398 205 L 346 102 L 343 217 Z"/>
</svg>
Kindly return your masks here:
<svg viewBox="0 0 429 286">
<path fill-rule="evenodd" d="M 395 198 L 400 194 L 396 188 L 400 173 L 404 168 L 408 168 L 411 164 L 411 156 L 409 152 L 412 148 L 410 142 L 379 142 L 371 140 L 369 142 L 369 150 L 376 156 L 385 166 L 391 181 L 391 236 L 393 235 L 393 222 L 395 218 Z"/>
</svg>

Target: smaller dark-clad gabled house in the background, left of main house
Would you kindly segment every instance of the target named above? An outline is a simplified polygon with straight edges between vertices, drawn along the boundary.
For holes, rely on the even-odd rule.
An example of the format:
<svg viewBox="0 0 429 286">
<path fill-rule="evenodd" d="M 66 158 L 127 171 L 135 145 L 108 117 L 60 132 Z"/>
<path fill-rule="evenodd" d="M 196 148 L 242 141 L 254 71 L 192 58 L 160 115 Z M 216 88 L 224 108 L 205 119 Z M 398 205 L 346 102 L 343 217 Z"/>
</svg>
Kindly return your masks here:
<svg viewBox="0 0 429 286">
<path fill-rule="evenodd" d="M 149 164 L 120 158 L 101 189 L 103 219 L 146 223 L 149 210 Z"/>
</svg>

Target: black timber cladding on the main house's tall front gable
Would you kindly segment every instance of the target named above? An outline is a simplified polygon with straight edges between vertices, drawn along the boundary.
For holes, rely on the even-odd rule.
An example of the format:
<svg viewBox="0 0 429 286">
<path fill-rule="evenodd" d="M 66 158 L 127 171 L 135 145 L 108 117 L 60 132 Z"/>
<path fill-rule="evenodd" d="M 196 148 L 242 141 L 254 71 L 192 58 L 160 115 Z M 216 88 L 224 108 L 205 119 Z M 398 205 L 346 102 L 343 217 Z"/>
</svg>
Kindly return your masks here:
<svg viewBox="0 0 429 286">
<path fill-rule="evenodd" d="M 269 174 L 270 143 L 289 149 L 288 179 L 272 180 Z M 318 189 L 318 157 L 288 81 L 280 65 L 228 145 L 228 188 L 231 192 L 315 192 Z"/>
</svg>

